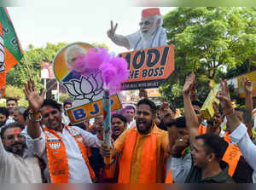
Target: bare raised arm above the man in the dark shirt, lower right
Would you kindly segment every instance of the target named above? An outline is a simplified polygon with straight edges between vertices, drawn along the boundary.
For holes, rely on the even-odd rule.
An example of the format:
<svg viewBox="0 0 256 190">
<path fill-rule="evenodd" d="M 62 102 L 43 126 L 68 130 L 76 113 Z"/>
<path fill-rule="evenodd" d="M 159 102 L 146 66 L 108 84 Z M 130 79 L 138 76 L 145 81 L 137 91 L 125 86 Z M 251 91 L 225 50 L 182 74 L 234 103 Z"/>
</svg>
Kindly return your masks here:
<svg viewBox="0 0 256 190">
<path fill-rule="evenodd" d="M 189 91 L 193 87 L 195 83 L 195 74 L 191 73 L 189 77 L 186 78 L 186 83 L 183 86 L 183 102 L 184 102 L 184 111 L 186 124 L 189 130 L 189 141 L 190 144 L 195 141 L 195 136 L 198 135 L 198 118 L 196 117 L 194 108 L 192 107 L 192 103 L 189 96 Z"/>
</svg>

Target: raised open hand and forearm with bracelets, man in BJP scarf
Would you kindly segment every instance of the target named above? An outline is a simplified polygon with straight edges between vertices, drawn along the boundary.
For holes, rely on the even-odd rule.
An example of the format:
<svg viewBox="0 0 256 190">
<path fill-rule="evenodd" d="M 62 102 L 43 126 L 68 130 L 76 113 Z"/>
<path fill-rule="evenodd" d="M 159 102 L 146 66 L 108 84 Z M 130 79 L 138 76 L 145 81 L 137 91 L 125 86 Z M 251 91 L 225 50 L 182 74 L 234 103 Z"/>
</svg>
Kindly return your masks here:
<svg viewBox="0 0 256 190">
<path fill-rule="evenodd" d="M 30 135 L 32 139 L 36 139 L 41 135 L 40 130 L 40 120 L 41 120 L 41 113 L 40 109 L 44 103 L 44 95 L 46 90 L 42 92 L 42 95 L 38 95 L 37 89 L 35 87 L 34 81 L 27 81 L 25 83 L 25 88 L 23 89 L 26 98 L 29 102 L 30 116 L 29 121 L 27 124 L 27 134 Z"/>
</svg>

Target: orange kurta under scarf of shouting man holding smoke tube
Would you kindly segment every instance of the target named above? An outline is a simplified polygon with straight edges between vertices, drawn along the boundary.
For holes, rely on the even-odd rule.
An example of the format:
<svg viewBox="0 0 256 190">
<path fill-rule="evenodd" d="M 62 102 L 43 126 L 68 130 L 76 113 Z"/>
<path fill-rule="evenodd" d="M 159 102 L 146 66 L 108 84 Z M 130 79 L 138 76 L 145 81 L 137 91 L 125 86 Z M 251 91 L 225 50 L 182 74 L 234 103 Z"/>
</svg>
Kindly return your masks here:
<svg viewBox="0 0 256 190">
<path fill-rule="evenodd" d="M 129 146 L 125 144 L 125 140 L 127 135 L 131 132 L 131 130 L 137 131 L 137 128 L 131 128 L 125 130 L 119 138 L 114 141 L 113 147 L 119 152 L 122 153 L 125 146 Z M 156 125 L 154 125 L 153 130 L 147 135 L 141 135 L 137 132 L 137 141 L 135 143 L 132 157 L 131 157 L 131 172 L 130 172 L 130 183 L 139 183 L 139 179 L 141 179 L 141 163 L 142 163 L 142 154 L 143 147 L 145 142 L 148 140 L 150 135 L 156 134 L 156 182 L 165 182 L 165 151 L 168 146 L 168 133 L 164 130 L 160 130 Z M 148 153 L 149 155 L 149 153 Z M 122 156 L 122 155 L 121 155 Z"/>
</svg>

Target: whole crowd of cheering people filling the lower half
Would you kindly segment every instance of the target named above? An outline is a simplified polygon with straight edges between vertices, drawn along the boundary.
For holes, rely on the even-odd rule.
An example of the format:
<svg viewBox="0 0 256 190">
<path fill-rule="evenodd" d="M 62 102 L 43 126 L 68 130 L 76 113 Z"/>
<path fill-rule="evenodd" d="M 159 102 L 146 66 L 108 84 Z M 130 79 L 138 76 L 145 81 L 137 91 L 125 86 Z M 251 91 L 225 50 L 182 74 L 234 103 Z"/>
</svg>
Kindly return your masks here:
<svg viewBox="0 0 256 190">
<path fill-rule="evenodd" d="M 71 124 L 63 105 L 25 84 L 28 107 L 15 98 L 0 107 L 0 181 L 8 183 L 253 183 L 253 85 L 242 80 L 245 108 L 230 100 L 219 80 L 214 115 L 203 118 L 195 74 L 183 86 L 183 108 L 156 106 L 140 90 L 137 105 L 112 113 L 112 147 L 103 140 L 103 118 Z M 232 103 L 233 102 L 233 103 Z M 180 112 L 184 110 L 184 112 Z M 104 158 L 111 158 L 105 164 Z"/>
</svg>

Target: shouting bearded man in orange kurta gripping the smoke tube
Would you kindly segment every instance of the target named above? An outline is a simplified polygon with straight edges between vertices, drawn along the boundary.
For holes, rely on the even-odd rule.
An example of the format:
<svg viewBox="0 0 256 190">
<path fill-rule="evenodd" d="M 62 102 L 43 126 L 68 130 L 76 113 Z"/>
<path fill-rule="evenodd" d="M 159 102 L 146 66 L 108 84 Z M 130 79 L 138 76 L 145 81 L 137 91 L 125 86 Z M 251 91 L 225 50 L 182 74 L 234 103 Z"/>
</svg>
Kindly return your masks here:
<svg viewBox="0 0 256 190">
<path fill-rule="evenodd" d="M 165 181 L 165 152 L 168 134 L 154 124 L 156 106 L 143 99 L 137 103 L 136 127 L 125 130 L 113 148 L 102 144 L 104 157 L 120 153 L 119 183 L 160 183 Z"/>
</svg>

